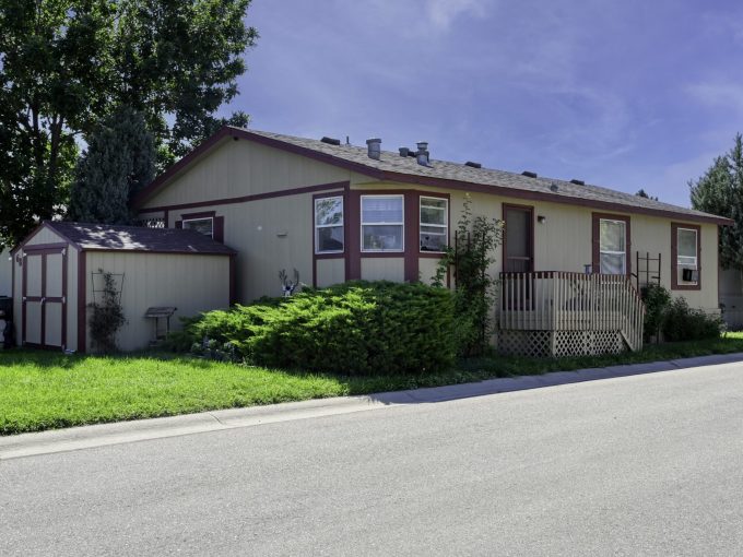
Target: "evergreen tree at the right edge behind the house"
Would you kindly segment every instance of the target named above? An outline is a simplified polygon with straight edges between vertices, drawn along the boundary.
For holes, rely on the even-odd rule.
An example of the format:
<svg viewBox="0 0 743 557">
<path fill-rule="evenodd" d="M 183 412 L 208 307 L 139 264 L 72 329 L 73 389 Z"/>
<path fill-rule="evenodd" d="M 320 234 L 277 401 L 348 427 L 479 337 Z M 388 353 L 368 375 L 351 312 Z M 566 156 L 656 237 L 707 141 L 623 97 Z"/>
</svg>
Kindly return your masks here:
<svg viewBox="0 0 743 557">
<path fill-rule="evenodd" d="M 735 135 L 733 147 L 688 185 L 694 209 L 733 221 L 720 227 L 720 263 L 743 271 L 743 137 Z"/>
</svg>

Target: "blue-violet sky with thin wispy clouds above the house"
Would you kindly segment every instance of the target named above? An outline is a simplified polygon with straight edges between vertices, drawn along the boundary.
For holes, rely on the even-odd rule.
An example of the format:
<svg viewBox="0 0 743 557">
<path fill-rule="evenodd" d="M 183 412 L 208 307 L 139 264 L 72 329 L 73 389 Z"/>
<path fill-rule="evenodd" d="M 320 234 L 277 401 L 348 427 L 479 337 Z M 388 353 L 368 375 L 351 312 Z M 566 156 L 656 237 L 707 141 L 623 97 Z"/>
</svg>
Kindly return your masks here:
<svg viewBox="0 0 743 557">
<path fill-rule="evenodd" d="M 252 0 L 251 128 L 688 206 L 743 132 L 743 2 Z"/>
</svg>

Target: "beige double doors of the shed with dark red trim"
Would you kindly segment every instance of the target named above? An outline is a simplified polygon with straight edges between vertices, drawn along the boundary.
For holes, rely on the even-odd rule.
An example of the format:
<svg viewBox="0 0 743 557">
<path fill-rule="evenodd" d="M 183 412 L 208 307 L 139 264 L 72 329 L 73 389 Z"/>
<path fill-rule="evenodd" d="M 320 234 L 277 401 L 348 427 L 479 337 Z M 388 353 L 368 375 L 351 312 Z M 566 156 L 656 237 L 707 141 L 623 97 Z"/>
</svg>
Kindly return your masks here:
<svg viewBox="0 0 743 557">
<path fill-rule="evenodd" d="M 67 247 L 34 249 L 23 258 L 24 345 L 64 349 L 67 331 Z"/>
</svg>

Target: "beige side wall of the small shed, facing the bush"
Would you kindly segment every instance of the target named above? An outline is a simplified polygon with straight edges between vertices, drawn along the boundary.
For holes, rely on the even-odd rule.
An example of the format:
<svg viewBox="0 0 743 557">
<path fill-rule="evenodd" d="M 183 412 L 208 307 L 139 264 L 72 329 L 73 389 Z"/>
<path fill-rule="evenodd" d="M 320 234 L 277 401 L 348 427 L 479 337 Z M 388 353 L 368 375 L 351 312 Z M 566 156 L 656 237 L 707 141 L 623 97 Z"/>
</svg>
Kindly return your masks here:
<svg viewBox="0 0 743 557">
<path fill-rule="evenodd" d="M 179 329 L 179 317 L 190 317 L 229 306 L 229 258 L 90 251 L 86 297 L 93 300 L 91 273 L 103 269 L 125 273 L 121 293 L 127 324 L 119 331 L 119 348 L 144 348 L 153 337 L 152 320 L 144 312 L 152 306 L 176 306 L 172 329 Z M 90 334 L 87 349 L 92 349 Z"/>
</svg>

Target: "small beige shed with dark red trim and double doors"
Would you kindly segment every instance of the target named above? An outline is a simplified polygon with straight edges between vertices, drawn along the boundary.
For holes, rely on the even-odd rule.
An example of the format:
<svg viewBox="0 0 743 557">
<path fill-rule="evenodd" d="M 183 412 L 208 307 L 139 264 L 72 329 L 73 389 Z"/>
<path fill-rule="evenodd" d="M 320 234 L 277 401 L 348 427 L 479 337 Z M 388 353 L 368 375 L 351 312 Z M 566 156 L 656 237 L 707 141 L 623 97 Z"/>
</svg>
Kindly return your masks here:
<svg viewBox="0 0 743 557">
<path fill-rule="evenodd" d="M 101 299 L 102 273 L 111 273 L 127 319 L 117 344 L 144 348 L 149 308 L 190 317 L 229 306 L 235 256 L 194 230 L 44 222 L 12 252 L 15 336 L 25 346 L 94 349 L 89 305 Z"/>
</svg>

